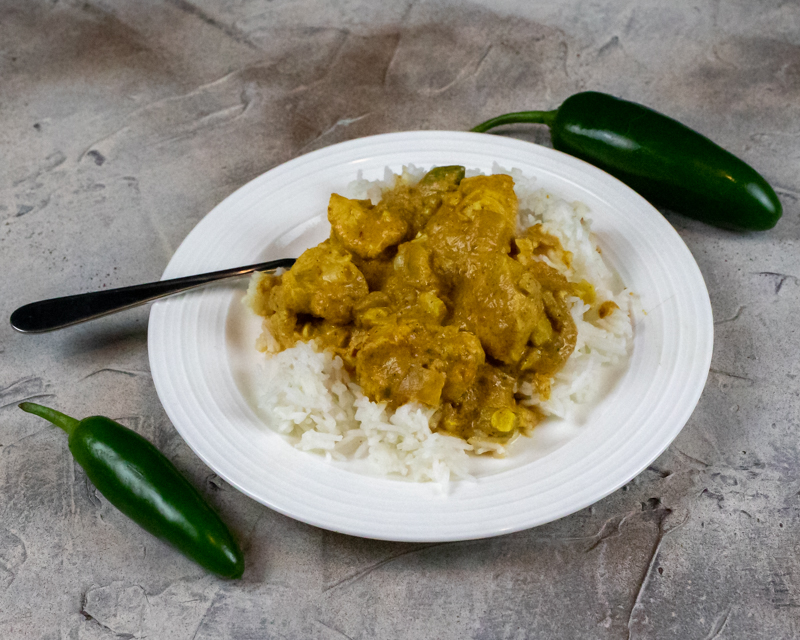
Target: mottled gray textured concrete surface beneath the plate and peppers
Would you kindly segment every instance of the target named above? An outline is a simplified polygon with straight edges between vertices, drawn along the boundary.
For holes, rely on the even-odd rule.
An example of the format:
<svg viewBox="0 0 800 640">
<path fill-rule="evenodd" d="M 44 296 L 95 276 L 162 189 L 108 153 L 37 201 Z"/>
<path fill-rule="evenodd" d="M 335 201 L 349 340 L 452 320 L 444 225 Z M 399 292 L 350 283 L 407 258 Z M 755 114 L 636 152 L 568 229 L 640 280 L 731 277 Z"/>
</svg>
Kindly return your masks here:
<svg viewBox="0 0 800 640">
<path fill-rule="evenodd" d="M 0 315 L 157 279 L 215 204 L 304 152 L 589 88 L 710 136 L 785 208 L 750 234 L 666 212 L 708 284 L 716 343 L 656 464 L 514 535 L 351 538 L 270 511 L 193 455 L 153 387 L 146 309 L 40 336 L 4 321 L 0 637 L 800 637 L 797 2 L 0 0 Z M 110 507 L 24 399 L 152 439 L 242 540 L 243 580 Z"/>
</svg>

